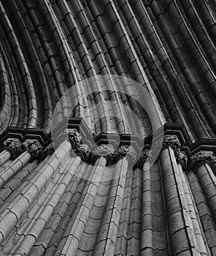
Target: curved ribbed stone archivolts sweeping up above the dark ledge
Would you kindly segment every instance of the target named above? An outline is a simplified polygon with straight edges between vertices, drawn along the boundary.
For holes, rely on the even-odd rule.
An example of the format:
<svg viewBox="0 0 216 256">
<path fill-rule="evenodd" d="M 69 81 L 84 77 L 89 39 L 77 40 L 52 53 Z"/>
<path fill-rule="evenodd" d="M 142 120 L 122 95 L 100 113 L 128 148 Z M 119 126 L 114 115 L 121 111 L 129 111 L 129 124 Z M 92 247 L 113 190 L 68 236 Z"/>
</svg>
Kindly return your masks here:
<svg viewBox="0 0 216 256">
<path fill-rule="evenodd" d="M 214 20 L 215 4 L 205 1 L 1 1 L 1 129 L 50 132 L 63 97 L 59 122 L 70 114 L 85 118 L 96 134 L 145 136 L 147 116 L 120 95 L 112 77 L 124 75 L 150 91 L 161 124 L 184 124 L 195 140 L 212 138 Z M 112 94 L 103 91 L 99 75 L 109 76 Z M 72 99 L 64 95 L 70 87 Z M 128 123 L 124 106 L 141 120 L 140 131 L 133 117 Z"/>
</svg>

